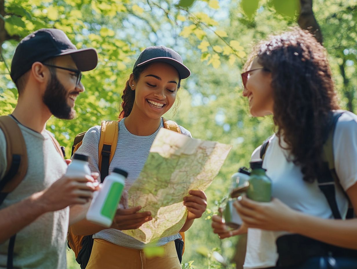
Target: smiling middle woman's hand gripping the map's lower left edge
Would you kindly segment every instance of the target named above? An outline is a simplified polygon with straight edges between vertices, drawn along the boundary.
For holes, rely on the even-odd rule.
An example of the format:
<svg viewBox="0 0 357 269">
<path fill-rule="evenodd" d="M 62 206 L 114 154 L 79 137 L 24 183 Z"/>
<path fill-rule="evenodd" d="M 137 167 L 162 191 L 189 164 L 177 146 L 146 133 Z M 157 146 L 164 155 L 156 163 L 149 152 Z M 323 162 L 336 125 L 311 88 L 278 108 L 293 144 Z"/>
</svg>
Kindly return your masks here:
<svg viewBox="0 0 357 269">
<path fill-rule="evenodd" d="M 140 209 L 141 206 L 128 209 L 117 209 L 110 228 L 118 230 L 137 229 L 145 222 L 152 220 L 152 216 L 149 211 L 138 213 L 137 211 Z"/>
</svg>

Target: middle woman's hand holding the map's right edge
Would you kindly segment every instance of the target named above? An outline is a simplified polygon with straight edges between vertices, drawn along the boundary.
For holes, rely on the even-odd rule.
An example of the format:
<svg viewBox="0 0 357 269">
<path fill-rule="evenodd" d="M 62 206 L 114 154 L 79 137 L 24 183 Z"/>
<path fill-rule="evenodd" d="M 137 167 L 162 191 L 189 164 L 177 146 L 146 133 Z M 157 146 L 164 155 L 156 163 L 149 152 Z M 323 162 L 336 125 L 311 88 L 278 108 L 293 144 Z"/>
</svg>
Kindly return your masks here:
<svg viewBox="0 0 357 269">
<path fill-rule="evenodd" d="M 188 210 L 187 220 L 201 218 L 207 208 L 207 197 L 202 190 L 190 190 L 190 195 L 183 197 L 183 205 Z"/>
</svg>

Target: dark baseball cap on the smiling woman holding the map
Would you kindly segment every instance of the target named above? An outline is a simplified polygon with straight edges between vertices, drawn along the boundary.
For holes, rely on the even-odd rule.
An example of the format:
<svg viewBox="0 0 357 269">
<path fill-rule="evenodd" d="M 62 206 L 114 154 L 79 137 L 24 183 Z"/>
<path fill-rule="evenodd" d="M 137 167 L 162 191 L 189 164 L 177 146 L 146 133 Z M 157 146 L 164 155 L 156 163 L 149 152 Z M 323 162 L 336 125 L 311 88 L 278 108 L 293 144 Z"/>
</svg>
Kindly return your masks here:
<svg viewBox="0 0 357 269">
<path fill-rule="evenodd" d="M 186 79 L 191 75 L 190 69 L 188 69 L 183 63 L 180 54 L 175 50 L 166 48 L 164 46 L 152 46 L 141 51 L 139 58 L 137 58 L 134 68 L 140 67 L 153 62 L 164 62 L 171 64 L 177 69 L 181 79 Z"/>
</svg>

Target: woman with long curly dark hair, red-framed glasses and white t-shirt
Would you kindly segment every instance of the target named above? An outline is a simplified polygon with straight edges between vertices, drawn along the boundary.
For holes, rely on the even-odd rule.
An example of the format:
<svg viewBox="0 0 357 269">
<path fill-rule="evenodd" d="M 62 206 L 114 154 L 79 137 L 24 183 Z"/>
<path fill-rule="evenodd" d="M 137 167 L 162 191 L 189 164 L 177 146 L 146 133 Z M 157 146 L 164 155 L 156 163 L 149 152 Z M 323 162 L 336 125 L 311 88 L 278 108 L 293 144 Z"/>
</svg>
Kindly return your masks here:
<svg viewBox="0 0 357 269">
<path fill-rule="evenodd" d="M 338 176 L 332 198 L 342 219 L 334 219 L 317 182 L 339 108 L 326 50 L 295 28 L 258 44 L 245 71 L 243 96 L 251 114 L 273 114 L 276 125 L 263 159 L 273 199 L 258 203 L 243 197 L 235 202 L 241 228 L 230 231 L 214 216 L 214 232 L 220 238 L 248 232 L 244 268 L 356 268 L 357 219 L 345 220 L 348 200 L 357 209 L 355 114 L 338 111 L 343 113 L 332 145 Z M 252 159 L 260 157 L 260 149 Z"/>
</svg>

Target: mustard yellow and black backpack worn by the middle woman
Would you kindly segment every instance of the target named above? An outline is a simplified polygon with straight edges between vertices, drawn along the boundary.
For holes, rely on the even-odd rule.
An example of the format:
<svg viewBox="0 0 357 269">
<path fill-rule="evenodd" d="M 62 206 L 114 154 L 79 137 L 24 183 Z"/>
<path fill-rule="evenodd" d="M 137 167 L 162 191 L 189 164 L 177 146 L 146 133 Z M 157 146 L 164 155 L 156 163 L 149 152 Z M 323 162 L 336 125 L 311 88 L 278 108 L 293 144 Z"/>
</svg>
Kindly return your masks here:
<svg viewBox="0 0 357 269">
<path fill-rule="evenodd" d="M 180 127 L 172 120 L 166 120 L 162 118 L 164 121 L 164 128 L 175 131 L 177 133 L 181 133 Z M 109 165 L 114 156 L 116 144 L 118 142 L 118 126 L 119 121 L 102 121 L 101 123 L 101 130 L 100 130 L 100 140 L 99 140 L 99 171 L 100 171 L 100 178 L 102 183 L 105 177 L 109 174 Z M 72 152 L 73 155 L 79 146 L 82 144 L 83 137 L 85 132 L 82 132 L 76 135 L 73 145 L 72 145 Z M 185 233 L 180 232 L 182 237 L 181 239 L 175 239 L 175 247 L 178 259 L 182 260 L 183 252 L 185 251 Z M 67 234 L 67 245 L 70 249 L 73 250 L 77 263 L 80 264 L 81 269 L 86 268 L 90 254 L 93 247 L 92 238 L 93 235 L 76 235 L 72 232 L 71 227 L 68 228 Z"/>
</svg>

